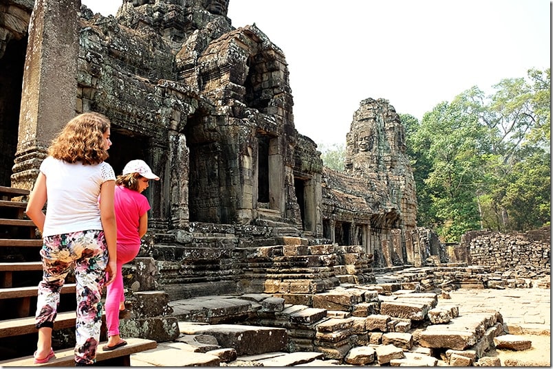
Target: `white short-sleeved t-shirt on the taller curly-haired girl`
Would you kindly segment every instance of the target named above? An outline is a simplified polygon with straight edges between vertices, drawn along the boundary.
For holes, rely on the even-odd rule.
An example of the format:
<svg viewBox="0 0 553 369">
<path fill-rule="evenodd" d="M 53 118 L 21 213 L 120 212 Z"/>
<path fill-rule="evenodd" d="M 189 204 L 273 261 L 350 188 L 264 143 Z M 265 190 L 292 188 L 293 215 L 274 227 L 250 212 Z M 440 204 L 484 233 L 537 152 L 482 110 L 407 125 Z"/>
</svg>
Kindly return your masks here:
<svg viewBox="0 0 553 369">
<path fill-rule="evenodd" d="M 46 176 L 47 194 L 43 236 L 102 230 L 100 186 L 116 179 L 109 164 L 69 164 L 49 156 L 40 170 Z"/>
</svg>

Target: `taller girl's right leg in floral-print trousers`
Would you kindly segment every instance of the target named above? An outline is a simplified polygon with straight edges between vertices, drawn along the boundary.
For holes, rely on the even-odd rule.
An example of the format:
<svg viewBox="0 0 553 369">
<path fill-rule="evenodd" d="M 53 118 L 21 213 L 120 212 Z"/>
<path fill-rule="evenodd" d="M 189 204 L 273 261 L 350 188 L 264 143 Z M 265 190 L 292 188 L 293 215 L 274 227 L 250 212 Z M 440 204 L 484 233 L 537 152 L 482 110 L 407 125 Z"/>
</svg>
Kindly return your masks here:
<svg viewBox="0 0 553 369">
<path fill-rule="evenodd" d="M 105 283 L 107 246 L 104 232 L 99 230 L 75 232 L 73 252 L 76 260 L 77 319 L 75 361 L 76 365 L 96 362 L 96 350 L 100 342 L 102 326 L 102 287 Z"/>
</svg>

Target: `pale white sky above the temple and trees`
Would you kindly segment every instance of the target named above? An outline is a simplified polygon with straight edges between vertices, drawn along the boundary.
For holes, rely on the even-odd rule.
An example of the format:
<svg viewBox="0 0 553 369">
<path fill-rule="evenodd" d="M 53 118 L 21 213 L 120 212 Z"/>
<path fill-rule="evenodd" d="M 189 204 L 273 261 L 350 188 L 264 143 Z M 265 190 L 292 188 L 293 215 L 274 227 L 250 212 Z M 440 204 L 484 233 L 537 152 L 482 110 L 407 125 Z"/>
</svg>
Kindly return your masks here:
<svg viewBox="0 0 553 369">
<path fill-rule="evenodd" d="M 105 16 L 122 4 L 82 2 Z M 470 87 L 491 93 L 551 65 L 545 0 L 230 0 L 228 17 L 282 49 L 294 124 L 317 144 L 344 144 L 367 98 L 421 120 Z"/>
</svg>

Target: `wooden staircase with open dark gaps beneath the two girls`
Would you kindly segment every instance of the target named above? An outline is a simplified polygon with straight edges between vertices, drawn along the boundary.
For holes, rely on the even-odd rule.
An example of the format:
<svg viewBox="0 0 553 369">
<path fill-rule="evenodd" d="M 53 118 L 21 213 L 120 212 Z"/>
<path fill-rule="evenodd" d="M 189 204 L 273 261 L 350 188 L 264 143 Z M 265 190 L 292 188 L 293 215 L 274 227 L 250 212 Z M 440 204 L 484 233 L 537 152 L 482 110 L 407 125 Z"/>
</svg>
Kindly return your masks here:
<svg viewBox="0 0 553 369">
<path fill-rule="evenodd" d="M 0 366 L 30 366 L 38 333 L 34 327 L 36 295 L 42 278 L 39 254 L 43 243 L 36 227 L 25 216 L 28 190 L 0 186 Z M 61 289 L 61 301 L 54 323 L 52 346 L 56 359 L 47 365 L 67 366 L 73 362 L 76 285 L 69 275 Z M 106 339 L 105 327 L 102 337 Z M 133 338 L 119 353 L 98 352 L 98 361 L 118 364 L 132 353 L 154 348 L 156 342 Z M 113 354 L 115 353 L 115 354 Z"/>
</svg>

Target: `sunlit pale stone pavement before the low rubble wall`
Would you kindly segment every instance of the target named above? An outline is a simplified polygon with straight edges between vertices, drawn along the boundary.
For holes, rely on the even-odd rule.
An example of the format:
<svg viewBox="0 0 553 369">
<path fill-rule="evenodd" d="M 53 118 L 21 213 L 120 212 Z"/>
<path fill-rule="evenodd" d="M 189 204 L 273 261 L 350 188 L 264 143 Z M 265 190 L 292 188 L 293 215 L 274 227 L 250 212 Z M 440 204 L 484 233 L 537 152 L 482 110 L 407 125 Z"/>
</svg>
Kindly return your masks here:
<svg viewBox="0 0 553 369">
<path fill-rule="evenodd" d="M 459 314 L 494 309 L 503 315 L 509 333 L 550 335 L 551 289 L 457 289 L 451 300 L 440 298 L 438 306 L 459 306 Z"/>
</svg>

